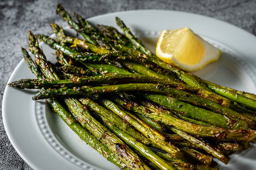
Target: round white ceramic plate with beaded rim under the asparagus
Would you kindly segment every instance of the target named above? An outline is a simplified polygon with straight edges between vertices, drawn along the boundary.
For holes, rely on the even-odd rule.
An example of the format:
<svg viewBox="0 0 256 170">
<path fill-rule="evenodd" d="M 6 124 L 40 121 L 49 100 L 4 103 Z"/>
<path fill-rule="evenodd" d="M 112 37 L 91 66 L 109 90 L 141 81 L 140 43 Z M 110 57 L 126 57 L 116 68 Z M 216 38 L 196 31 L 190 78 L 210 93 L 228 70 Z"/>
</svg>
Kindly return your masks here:
<svg viewBox="0 0 256 170">
<path fill-rule="evenodd" d="M 189 26 L 223 51 L 218 62 L 194 73 L 224 86 L 256 93 L 254 35 L 209 17 L 167 10 L 124 11 L 93 17 L 89 21 L 93 24 L 116 26 L 116 16 L 120 17 L 153 51 L 162 29 Z M 41 46 L 47 58 L 55 61 L 52 55 L 54 50 L 44 44 Z M 21 78 L 35 78 L 24 60 L 16 67 L 8 82 Z M 34 92 L 6 87 L 2 103 L 6 133 L 17 152 L 33 169 L 118 169 L 79 139 L 57 114 L 51 111 L 44 100 L 32 101 Z M 218 168 L 254 170 L 255 155 L 256 146 L 252 144 L 249 149 L 231 155 L 228 165 L 217 160 Z"/>
</svg>

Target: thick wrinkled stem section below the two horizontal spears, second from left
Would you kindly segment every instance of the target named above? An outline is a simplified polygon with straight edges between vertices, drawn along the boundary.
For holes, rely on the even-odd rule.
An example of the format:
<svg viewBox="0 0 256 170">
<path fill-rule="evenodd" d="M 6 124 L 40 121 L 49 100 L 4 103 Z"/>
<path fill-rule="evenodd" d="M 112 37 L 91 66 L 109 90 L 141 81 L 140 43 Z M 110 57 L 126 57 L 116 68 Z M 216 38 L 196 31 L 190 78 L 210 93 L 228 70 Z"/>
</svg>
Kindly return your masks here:
<svg viewBox="0 0 256 170">
<path fill-rule="evenodd" d="M 78 100 L 69 98 L 64 101 L 68 106 L 68 109 L 70 109 L 73 117 L 75 117 L 84 128 L 94 134 L 101 143 L 118 155 L 119 159 L 122 160 L 130 169 L 149 169 L 120 138 L 96 121 Z"/>
</svg>

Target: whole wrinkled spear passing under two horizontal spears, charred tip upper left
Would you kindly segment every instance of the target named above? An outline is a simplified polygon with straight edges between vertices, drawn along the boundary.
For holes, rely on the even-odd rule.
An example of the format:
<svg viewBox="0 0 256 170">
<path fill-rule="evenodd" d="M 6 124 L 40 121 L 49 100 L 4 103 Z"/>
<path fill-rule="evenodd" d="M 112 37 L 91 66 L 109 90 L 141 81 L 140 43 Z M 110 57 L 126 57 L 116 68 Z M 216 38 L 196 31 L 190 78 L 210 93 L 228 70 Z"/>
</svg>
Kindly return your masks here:
<svg viewBox="0 0 256 170">
<path fill-rule="evenodd" d="M 53 78 L 58 80 L 59 79 L 58 75 L 54 72 L 54 69 L 52 68 L 51 64 L 46 61 L 45 56 L 43 55 L 42 51 L 38 47 L 37 40 L 35 39 L 35 37 L 32 35 L 31 32 L 29 32 L 29 45 L 30 45 L 31 51 L 35 54 L 36 63 L 38 63 L 41 70 L 44 70 L 46 78 Z M 90 117 L 91 118 L 90 119 L 89 114 L 83 111 L 82 106 L 79 107 L 80 112 L 74 112 L 74 108 L 77 109 L 76 106 L 79 106 L 79 102 L 76 99 L 68 97 L 68 98 L 64 98 L 64 102 L 68 105 L 68 108 L 72 111 L 72 113 L 77 113 L 75 114 L 76 119 L 79 120 L 80 123 L 83 123 L 82 125 L 84 126 L 88 125 L 85 127 L 87 129 L 90 129 L 93 135 L 96 136 L 96 138 L 100 139 L 100 141 L 102 141 L 104 145 L 106 145 L 113 153 L 115 153 L 117 157 L 120 160 L 122 160 L 122 162 L 124 162 L 128 168 L 142 169 L 142 170 L 149 169 L 140 160 L 140 158 L 132 150 L 130 150 L 129 147 L 126 146 L 118 137 L 116 137 L 115 135 L 112 135 L 112 133 L 108 132 L 103 126 L 101 126 L 100 128 L 100 123 L 97 123 L 97 121 L 94 121 L 92 117 Z M 83 114 L 87 114 L 86 115 L 87 117 L 83 117 L 82 116 Z M 87 121 L 90 120 L 91 123 L 84 124 L 85 120 Z M 101 133 L 98 133 L 99 131 Z"/>
</svg>

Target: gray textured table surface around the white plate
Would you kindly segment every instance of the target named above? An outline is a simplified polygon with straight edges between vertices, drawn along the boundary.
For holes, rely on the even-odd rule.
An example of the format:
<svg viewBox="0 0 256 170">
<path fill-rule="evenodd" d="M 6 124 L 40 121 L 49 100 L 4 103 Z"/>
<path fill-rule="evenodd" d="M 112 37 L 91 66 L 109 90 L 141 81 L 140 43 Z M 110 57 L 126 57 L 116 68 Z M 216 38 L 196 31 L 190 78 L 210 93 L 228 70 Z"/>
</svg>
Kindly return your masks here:
<svg viewBox="0 0 256 170">
<path fill-rule="evenodd" d="M 86 18 L 132 9 L 186 11 L 223 20 L 256 35 L 256 0 L 1 0 L 0 107 L 7 80 L 22 60 L 20 47 L 27 47 L 28 31 L 51 34 L 49 23 L 67 25 L 54 12 L 57 3 Z M 30 169 L 10 144 L 0 117 L 0 170 Z"/>
</svg>

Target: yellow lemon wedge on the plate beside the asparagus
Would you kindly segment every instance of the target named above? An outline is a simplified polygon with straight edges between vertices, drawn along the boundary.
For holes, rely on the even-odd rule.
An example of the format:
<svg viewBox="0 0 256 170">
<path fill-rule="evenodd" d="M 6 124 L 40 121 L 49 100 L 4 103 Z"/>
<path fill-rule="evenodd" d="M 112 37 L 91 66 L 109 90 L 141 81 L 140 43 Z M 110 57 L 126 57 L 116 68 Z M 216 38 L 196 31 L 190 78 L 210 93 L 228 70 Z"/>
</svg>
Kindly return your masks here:
<svg viewBox="0 0 256 170">
<path fill-rule="evenodd" d="M 221 50 L 206 42 L 189 27 L 163 30 L 156 55 L 164 62 L 184 71 L 200 70 L 221 57 Z"/>
</svg>

